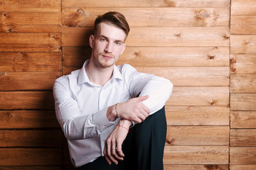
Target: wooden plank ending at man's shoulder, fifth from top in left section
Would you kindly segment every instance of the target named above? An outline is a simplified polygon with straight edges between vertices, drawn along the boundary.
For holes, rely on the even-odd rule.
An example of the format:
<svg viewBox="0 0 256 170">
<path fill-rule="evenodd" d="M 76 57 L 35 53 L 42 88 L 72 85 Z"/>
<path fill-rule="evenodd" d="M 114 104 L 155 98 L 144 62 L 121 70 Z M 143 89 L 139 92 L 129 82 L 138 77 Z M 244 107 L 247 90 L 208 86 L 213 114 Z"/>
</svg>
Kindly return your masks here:
<svg viewBox="0 0 256 170">
<path fill-rule="evenodd" d="M 61 72 L 0 72 L 0 91 L 52 90 Z"/>
</svg>

